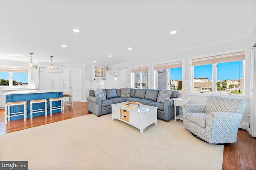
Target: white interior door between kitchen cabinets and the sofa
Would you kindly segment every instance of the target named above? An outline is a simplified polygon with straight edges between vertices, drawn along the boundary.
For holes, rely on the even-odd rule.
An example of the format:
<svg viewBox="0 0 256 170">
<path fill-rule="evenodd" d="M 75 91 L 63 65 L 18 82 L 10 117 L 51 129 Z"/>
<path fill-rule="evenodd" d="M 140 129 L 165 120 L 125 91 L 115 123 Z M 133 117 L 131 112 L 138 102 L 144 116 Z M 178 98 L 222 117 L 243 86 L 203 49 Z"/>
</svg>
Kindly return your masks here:
<svg viewBox="0 0 256 170">
<path fill-rule="evenodd" d="M 69 70 L 69 84 L 74 102 L 82 102 L 82 70 Z"/>
</svg>

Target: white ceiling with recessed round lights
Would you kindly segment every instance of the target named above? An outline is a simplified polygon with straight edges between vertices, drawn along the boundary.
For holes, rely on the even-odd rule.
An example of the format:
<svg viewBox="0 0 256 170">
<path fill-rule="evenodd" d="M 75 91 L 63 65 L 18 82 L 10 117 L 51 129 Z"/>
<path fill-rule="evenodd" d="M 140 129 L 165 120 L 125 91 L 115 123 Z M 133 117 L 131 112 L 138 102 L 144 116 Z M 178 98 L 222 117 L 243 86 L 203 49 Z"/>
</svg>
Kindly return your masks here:
<svg viewBox="0 0 256 170">
<path fill-rule="evenodd" d="M 250 37 L 255 25 L 256 0 L 1 0 L 0 59 L 109 66 Z"/>
</svg>

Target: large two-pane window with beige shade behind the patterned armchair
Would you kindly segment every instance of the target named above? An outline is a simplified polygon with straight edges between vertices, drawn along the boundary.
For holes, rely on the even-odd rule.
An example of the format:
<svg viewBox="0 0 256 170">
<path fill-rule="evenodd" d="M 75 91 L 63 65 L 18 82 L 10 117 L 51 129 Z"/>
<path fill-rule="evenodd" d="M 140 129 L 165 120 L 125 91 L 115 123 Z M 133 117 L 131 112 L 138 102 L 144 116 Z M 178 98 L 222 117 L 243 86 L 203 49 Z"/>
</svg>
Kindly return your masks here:
<svg viewBox="0 0 256 170">
<path fill-rule="evenodd" d="M 193 59 L 193 91 L 242 94 L 244 59 L 244 52 Z"/>
</svg>

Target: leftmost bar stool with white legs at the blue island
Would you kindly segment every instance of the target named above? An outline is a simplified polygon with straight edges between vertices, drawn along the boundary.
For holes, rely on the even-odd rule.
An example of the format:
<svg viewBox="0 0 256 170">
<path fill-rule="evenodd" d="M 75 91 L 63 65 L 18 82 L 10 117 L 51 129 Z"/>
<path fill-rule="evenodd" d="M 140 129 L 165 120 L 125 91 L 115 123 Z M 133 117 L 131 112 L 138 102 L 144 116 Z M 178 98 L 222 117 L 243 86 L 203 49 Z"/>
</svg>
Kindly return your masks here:
<svg viewBox="0 0 256 170">
<path fill-rule="evenodd" d="M 10 113 L 10 106 L 19 106 L 19 105 L 24 106 L 23 111 Z M 6 125 L 7 125 L 7 119 L 8 119 L 8 121 L 10 121 L 10 117 L 14 117 L 14 116 L 24 115 L 24 121 L 26 121 L 26 118 L 27 118 L 27 101 L 8 102 L 8 103 L 4 104 L 4 106 L 5 106 L 4 118 L 5 118 L 5 124 Z"/>
</svg>

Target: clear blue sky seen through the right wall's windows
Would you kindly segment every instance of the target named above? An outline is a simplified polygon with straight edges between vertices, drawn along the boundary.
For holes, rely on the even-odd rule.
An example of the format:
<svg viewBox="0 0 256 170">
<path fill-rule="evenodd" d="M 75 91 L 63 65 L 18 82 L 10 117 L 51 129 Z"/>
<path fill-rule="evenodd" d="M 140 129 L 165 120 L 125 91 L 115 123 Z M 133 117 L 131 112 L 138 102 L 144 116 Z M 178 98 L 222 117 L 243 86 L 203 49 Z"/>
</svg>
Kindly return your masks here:
<svg viewBox="0 0 256 170">
<path fill-rule="evenodd" d="M 237 80 L 242 78 L 242 61 L 233 61 L 217 64 L 217 80 Z M 171 68 L 170 77 L 172 80 L 182 80 L 182 69 Z M 194 66 L 194 77 L 207 77 L 212 80 L 212 64 Z"/>
</svg>

